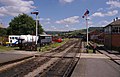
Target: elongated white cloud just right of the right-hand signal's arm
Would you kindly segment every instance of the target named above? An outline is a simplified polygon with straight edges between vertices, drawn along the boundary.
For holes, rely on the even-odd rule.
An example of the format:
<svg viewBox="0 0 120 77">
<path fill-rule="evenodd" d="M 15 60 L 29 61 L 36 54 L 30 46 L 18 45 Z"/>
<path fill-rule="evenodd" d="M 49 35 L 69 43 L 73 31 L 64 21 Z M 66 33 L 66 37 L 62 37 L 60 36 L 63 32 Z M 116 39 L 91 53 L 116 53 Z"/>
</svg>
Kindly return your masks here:
<svg viewBox="0 0 120 77">
<path fill-rule="evenodd" d="M 114 16 L 116 14 L 118 14 L 118 10 L 108 11 L 107 13 L 96 12 L 92 15 L 92 17 Z"/>
</svg>

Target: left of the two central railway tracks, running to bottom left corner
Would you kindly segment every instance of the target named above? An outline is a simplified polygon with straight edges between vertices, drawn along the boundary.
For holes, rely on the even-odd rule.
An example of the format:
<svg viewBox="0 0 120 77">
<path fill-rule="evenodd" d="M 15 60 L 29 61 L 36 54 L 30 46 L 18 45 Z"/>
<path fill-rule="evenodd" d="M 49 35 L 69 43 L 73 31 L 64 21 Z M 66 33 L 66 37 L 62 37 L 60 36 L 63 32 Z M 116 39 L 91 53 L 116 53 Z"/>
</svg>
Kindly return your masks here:
<svg viewBox="0 0 120 77">
<path fill-rule="evenodd" d="M 69 42 L 67 42 L 63 46 L 61 46 L 55 50 L 50 51 L 49 57 L 44 57 L 44 55 L 47 54 L 47 53 L 45 53 L 45 54 L 37 56 L 37 57 L 33 58 L 32 60 L 29 60 L 25 63 L 21 63 L 19 65 L 12 67 L 12 68 L 4 70 L 4 71 L 0 72 L 0 77 L 8 77 L 8 76 L 9 77 L 24 77 L 29 72 L 32 72 L 33 70 L 37 69 L 38 67 L 41 67 L 43 64 L 50 61 L 52 59 L 51 58 L 52 55 L 64 51 L 66 48 L 69 48 L 71 45 L 73 45 L 76 42 L 77 42 L 76 40 L 75 41 L 70 40 Z M 58 62 L 58 63 L 60 62 L 60 64 L 61 64 L 61 63 L 65 63 L 67 61 L 65 63 L 66 66 L 68 65 L 69 62 L 71 62 L 71 59 L 63 59 L 62 58 L 60 60 L 57 59 L 56 62 Z M 56 64 L 56 63 L 54 62 L 54 64 Z"/>
</svg>

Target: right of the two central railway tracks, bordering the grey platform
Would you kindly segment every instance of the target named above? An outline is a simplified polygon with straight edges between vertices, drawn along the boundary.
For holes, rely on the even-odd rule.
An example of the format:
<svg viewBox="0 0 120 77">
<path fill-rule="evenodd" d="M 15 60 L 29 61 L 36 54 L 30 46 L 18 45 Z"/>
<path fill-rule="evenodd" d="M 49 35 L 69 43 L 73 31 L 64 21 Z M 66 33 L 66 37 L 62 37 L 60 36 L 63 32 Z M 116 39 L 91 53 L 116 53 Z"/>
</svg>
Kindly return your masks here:
<svg viewBox="0 0 120 77">
<path fill-rule="evenodd" d="M 81 42 L 77 41 L 76 44 L 65 53 L 61 59 L 55 62 L 52 66 L 46 69 L 43 73 L 37 74 L 35 77 L 68 77 L 73 71 L 79 58 L 76 58 L 76 54 L 80 50 Z M 65 58 L 68 53 L 74 53 L 72 58 Z"/>
</svg>

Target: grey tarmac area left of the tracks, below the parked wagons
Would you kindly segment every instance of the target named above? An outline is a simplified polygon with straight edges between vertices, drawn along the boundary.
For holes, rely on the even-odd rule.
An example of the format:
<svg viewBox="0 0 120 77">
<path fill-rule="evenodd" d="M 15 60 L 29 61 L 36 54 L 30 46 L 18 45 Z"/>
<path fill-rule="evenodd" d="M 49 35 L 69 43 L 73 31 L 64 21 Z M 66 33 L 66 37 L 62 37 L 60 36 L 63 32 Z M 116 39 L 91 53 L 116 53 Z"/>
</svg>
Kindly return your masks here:
<svg viewBox="0 0 120 77">
<path fill-rule="evenodd" d="M 10 51 L 10 52 L 0 52 L 0 65 L 9 63 L 12 61 L 17 61 L 20 59 L 28 58 L 34 56 L 37 52 L 30 51 Z"/>
</svg>

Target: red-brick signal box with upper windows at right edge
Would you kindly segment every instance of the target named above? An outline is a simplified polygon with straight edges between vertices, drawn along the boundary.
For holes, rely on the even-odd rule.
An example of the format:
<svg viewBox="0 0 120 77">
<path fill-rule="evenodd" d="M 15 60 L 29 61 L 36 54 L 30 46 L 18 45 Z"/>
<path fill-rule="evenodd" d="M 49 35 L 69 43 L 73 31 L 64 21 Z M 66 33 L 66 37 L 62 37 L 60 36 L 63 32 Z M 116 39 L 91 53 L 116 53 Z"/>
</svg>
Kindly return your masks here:
<svg viewBox="0 0 120 77">
<path fill-rule="evenodd" d="M 104 27 L 104 45 L 109 49 L 120 50 L 120 19 Z"/>
</svg>

